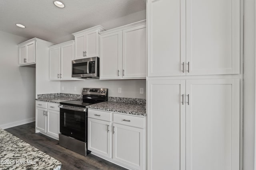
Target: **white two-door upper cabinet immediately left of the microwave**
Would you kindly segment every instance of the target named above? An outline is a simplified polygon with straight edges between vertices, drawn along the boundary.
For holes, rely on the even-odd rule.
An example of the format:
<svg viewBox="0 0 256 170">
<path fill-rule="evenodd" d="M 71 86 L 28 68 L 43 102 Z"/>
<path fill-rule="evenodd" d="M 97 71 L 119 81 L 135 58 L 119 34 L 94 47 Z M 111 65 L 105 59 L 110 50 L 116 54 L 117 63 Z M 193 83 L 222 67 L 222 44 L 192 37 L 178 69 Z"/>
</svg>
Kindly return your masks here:
<svg viewBox="0 0 256 170">
<path fill-rule="evenodd" d="M 53 45 L 50 48 L 50 80 L 82 80 L 72 77 L 74 40 Z"/>
</svg>

